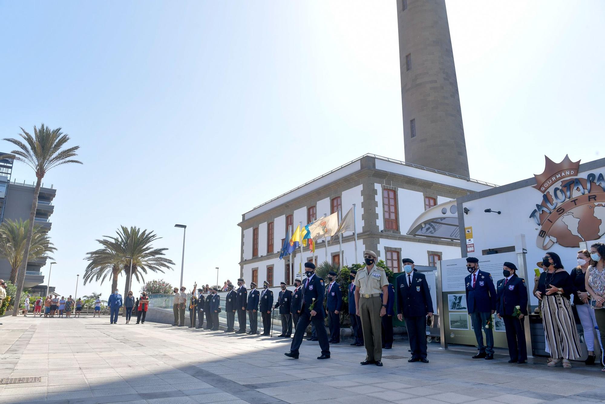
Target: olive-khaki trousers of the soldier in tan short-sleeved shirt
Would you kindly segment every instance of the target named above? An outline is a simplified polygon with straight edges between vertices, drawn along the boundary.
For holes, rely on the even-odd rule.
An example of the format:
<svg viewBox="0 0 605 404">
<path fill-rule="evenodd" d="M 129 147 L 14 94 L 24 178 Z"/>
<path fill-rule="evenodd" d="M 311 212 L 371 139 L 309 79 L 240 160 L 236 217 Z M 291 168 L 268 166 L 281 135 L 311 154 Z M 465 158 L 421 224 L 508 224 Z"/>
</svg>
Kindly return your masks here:
<svg viewBox="0 0 605 404">
<path fill-rule="evenodd" d="M 382 323 L 379 296 L 359 297 L 359 317 L 364 330 L 365 360 L 382 360 Z"/>
</svg>

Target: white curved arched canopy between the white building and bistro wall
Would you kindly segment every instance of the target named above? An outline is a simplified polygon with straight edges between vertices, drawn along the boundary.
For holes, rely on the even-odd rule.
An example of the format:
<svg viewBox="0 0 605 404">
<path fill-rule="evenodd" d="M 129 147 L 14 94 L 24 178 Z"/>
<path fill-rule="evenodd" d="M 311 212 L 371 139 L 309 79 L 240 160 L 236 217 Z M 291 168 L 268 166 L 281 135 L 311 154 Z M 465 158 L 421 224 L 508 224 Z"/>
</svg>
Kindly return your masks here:
<svg viewBox="0 0 605 404">
<path fill-rule="evenodd" d="M 460 240 L 456 199 L 425 210 L 414 220 L 408 236 Z"/>
</svg>

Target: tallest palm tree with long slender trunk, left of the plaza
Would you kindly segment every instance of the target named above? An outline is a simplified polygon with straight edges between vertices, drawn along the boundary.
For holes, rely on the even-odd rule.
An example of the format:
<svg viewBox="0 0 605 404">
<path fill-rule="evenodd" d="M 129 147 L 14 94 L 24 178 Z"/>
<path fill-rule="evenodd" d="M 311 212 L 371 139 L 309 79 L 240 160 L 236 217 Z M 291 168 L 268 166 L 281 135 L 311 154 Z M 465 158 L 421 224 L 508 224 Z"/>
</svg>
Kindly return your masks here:
<svg viewBox="0 0 605 404">
<path fill-rule="evenodd" d="M 22 133 L 19 133 L 19 136 L 21 136 L 25 143 L 20 139 L 5 138 L 5 141 L 11 142 L 19 149 L 11 151 L 11 154 L 0 156 L 0 159 L 10 158 L 24 162 L 36 172 L 36 188 L 34 188 L 34 197 L 31 202 L 30 217 L 23 252 L 24 257 L 29 257 L 31 237 L 33 237 L 34 230 L 34 217 L 36 216 L 36 209 L 38 209 L 38 196 L 40 194 L 42 179 L 48 170 L 57 167 L 57 165 L 70 163 L 82 164 L 82 162 L 72 158 L 77 156 L 76 150 L 80 148 L 79 146 L 61 150 L 61 148 L 70 140 L 70 137 L 67 134 L 64 134 L 61 131 L 61 128 L 51 129 L 44 124 L 40 125 L 40 128 L 34 126 L 34 136 L 27 133 L 24 128 L 21 128 L 21 131 Z M 17 274 L 17 294 L 15 296 L 17 302 L 21 301 L 19 299 L 21 299 L 21 293 L 23 291 L 26 268 L 27 260 L 24 259 L 21 262 L 21 267 L 19 267 Z M 15 305 L 13 316 L 17 316 L 18 310 L 18 305 Z"/>
</svg>

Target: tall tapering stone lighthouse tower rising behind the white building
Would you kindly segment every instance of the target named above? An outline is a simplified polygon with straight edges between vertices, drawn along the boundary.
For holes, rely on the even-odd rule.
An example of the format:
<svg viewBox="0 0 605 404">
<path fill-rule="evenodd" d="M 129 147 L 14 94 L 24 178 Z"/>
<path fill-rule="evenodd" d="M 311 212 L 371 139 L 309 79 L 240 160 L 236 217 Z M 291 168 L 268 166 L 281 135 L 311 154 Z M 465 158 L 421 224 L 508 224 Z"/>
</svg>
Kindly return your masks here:
<svg viewBox="0 0 605 404">
<path fill-rule="evenodd" d="M 397 0 L 405 161 L 469 176 L 445 0 Z"/>
</svg>

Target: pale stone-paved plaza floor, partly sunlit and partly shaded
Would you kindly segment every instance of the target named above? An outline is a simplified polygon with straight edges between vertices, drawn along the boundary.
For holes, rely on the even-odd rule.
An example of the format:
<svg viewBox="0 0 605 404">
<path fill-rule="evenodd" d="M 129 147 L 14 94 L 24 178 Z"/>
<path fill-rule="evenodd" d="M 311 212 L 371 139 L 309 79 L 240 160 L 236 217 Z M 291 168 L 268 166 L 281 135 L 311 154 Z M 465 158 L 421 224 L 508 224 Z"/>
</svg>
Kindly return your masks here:
<svg viewBox="0 0 605 404">
<path fill-rule="evenodd" d="M 361 366 L 365 349 L 177 328 L 110 325 L 108 317 L 2 317 L 0 378 L 41 377 L 0 385 L 0 403 L 577 403 L 605 401 L 599 366 L 547 368 L 545 359 L 511 365 L 503 351 L 471 359 L 472 348 L 430 344 L 430 363 L 408 363 L 396 342 L 384 366 Z M 274 331 L 275 333 L 275 331 Z M 275 333 L 278 334 L 278 333 Z"/>
</svg>

